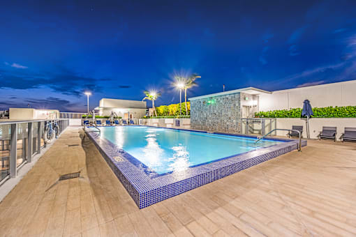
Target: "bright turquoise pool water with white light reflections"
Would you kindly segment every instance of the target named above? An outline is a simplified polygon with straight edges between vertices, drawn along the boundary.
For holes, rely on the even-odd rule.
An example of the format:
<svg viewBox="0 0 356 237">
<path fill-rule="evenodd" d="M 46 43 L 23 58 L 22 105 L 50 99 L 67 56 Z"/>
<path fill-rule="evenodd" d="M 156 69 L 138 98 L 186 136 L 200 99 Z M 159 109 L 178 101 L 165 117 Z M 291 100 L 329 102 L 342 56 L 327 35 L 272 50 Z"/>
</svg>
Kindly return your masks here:
<svg viewBox="0 0 356 237">
<path fill-rule="evenodd" d="M 124 149 L 157 174 L 182 171 L 191 166 L 281 144 L 266 139 L 255 144 L 256 139 L 248 137 L 145 126 L 101 127 L 101 137 Z"/>
</svg>

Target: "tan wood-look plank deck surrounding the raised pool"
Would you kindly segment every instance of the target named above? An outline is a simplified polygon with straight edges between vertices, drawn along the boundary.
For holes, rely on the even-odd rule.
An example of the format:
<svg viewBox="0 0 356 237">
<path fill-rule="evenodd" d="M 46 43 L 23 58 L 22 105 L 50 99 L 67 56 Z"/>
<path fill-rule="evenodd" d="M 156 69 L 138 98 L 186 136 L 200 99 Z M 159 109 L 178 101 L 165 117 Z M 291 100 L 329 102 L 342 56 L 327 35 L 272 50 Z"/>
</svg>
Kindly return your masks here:
<svg viewBox="0 0 356 237">
<path fill-rule="evenodd" d="M 0 203 L 0 236 L 356 235 L 355 143 L 308 141 L 140 210 L 83 136 L 69 127 Z"/>
</svg>

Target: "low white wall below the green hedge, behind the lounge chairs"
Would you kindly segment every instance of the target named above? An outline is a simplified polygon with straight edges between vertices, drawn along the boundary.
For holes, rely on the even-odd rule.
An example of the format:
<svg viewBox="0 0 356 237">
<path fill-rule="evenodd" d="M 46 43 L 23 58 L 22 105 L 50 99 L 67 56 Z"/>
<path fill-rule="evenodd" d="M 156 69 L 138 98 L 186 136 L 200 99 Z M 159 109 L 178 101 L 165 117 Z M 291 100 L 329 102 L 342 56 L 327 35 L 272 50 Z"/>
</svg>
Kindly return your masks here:
<svg viewBox="0 0 356 237">
<path fill-rule="evenodd" d="M 292 125 L 303 125 L 303 137 L 306 137 L 306 121 L 302 119 L 277 119 L 277 128 L 291 129 Z M 322 126 L 336 127 L 336 138 L 339 139 L 345 128 L 356 128 L 356 118 L 312 118 L 309 119 L 311 138 L 317 138 Z M 277 131 L 277 135 L 285 136 L 288 132 Z"/>
</svg>

